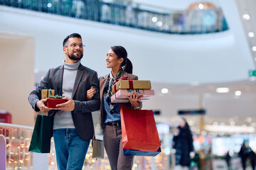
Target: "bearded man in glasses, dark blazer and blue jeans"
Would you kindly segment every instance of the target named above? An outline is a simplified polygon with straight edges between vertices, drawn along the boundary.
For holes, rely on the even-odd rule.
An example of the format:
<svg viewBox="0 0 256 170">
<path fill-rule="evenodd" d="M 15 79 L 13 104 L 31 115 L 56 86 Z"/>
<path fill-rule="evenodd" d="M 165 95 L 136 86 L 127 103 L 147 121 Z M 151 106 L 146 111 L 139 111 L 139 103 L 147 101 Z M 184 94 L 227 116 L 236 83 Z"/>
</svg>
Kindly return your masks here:
<svg viewBox="0 0 256 170">
<path fill-rule="evenodd" d="M 99 80 L 97 72 L 80 64 L 83 55 L 82 38 L 78 33 L 63 40 L 64 64 L 49 69 L 40 84 L 28 96 L 35 111 L 53 115 L 53 139 L 59 170 L 82 169 L 85 154 L 94 135 L 92 111 L 100 108 Z M 67 102 L 45 106 L 47 99 L 41 99 L 41 90 L 54 89 L 55 95 L 65 96 Z M 87 101 L 86 91 L 96 89 L 95 95 Z"/>
</svg>

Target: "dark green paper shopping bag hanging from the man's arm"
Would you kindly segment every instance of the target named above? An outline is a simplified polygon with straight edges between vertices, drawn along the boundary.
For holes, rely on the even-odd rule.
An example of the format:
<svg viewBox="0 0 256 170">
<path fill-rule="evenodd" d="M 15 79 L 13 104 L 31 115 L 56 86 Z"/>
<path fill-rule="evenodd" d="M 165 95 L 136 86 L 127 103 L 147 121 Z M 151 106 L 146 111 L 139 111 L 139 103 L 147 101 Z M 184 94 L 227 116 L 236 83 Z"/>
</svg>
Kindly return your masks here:
<svg viewBox="0 0 256 170">
<path fill-rule="evenodd" d="M 52 117 L 37 115 L 29 152 L 50 153 L 50 138 L 53 136 Z"/>
</svg>

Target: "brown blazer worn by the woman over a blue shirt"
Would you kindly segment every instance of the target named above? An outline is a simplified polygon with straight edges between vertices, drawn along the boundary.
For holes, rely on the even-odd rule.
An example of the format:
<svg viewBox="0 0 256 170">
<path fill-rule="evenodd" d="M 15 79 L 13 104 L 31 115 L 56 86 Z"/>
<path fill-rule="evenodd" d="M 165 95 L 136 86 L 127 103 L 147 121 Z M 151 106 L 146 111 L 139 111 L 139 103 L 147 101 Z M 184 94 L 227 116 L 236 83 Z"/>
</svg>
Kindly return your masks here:
<svg viewBox="0 0 256 170">
<path fill-rule="evenodd" d="M 122 72 L 122 76 L 123 78 L 127 78 L 129 80 L 138 80 L 138 77 L 134 74 L 129 74 L 127 72 Z M 104 120 L 105 120 L 105 115 L 104 115 L 104 111 L 103 111 L 103 101 L 102 101 L 102 98 L 103 98 L 103 90 L 104 90 L 104 87 L 107 83 L 107 80 L 110 78 L 110 74 L 107 74 L 105 75 L 105 77 L 100 77 L 100 125 L 101 127 L 103 128 L 103 125 L 104 125 Z M 120 105 L 124 105 L 124 106 L 128 106 L 128 107 L 131 107 L 131 104 L 130 103 L 119 103 L 119 106 Z"/>
</svg>

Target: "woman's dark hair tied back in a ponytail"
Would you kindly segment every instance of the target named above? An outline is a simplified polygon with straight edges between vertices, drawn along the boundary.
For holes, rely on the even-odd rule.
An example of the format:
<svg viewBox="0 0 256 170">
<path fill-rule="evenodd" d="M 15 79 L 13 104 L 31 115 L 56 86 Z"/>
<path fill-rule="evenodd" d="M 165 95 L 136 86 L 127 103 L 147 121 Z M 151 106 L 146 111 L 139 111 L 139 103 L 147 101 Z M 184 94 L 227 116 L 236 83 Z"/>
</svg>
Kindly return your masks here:
<svg viewBox="0 0 256 170">
<path fill-rule="evenodd" d="M 124 72 L 132 74 L 132 62 L 127 57 L 127 50 L 125 50 L 125 48 L 120 45 L 112 46 L 111 49 L 117 55 L 117 58 L 124 59 L 121 64 L 121 67 L 124 67 Z"/>
</svg>

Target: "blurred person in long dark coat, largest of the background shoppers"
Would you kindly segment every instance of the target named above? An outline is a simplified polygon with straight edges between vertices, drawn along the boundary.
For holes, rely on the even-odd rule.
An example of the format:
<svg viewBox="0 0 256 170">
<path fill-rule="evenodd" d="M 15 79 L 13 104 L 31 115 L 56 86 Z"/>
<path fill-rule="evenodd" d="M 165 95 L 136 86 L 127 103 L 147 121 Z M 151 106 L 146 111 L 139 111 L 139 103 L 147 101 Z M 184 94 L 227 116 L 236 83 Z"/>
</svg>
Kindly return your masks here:
<svg viewBox="0 0 256 170">
<path fill-rule="evenodd" d="M 193 152 L 193 137 L 185 118 L 181 118 L 178 128 L 174 129 L 174 149 L 176 149 L 175 170 L 188 169 Z"/>
</svg>

